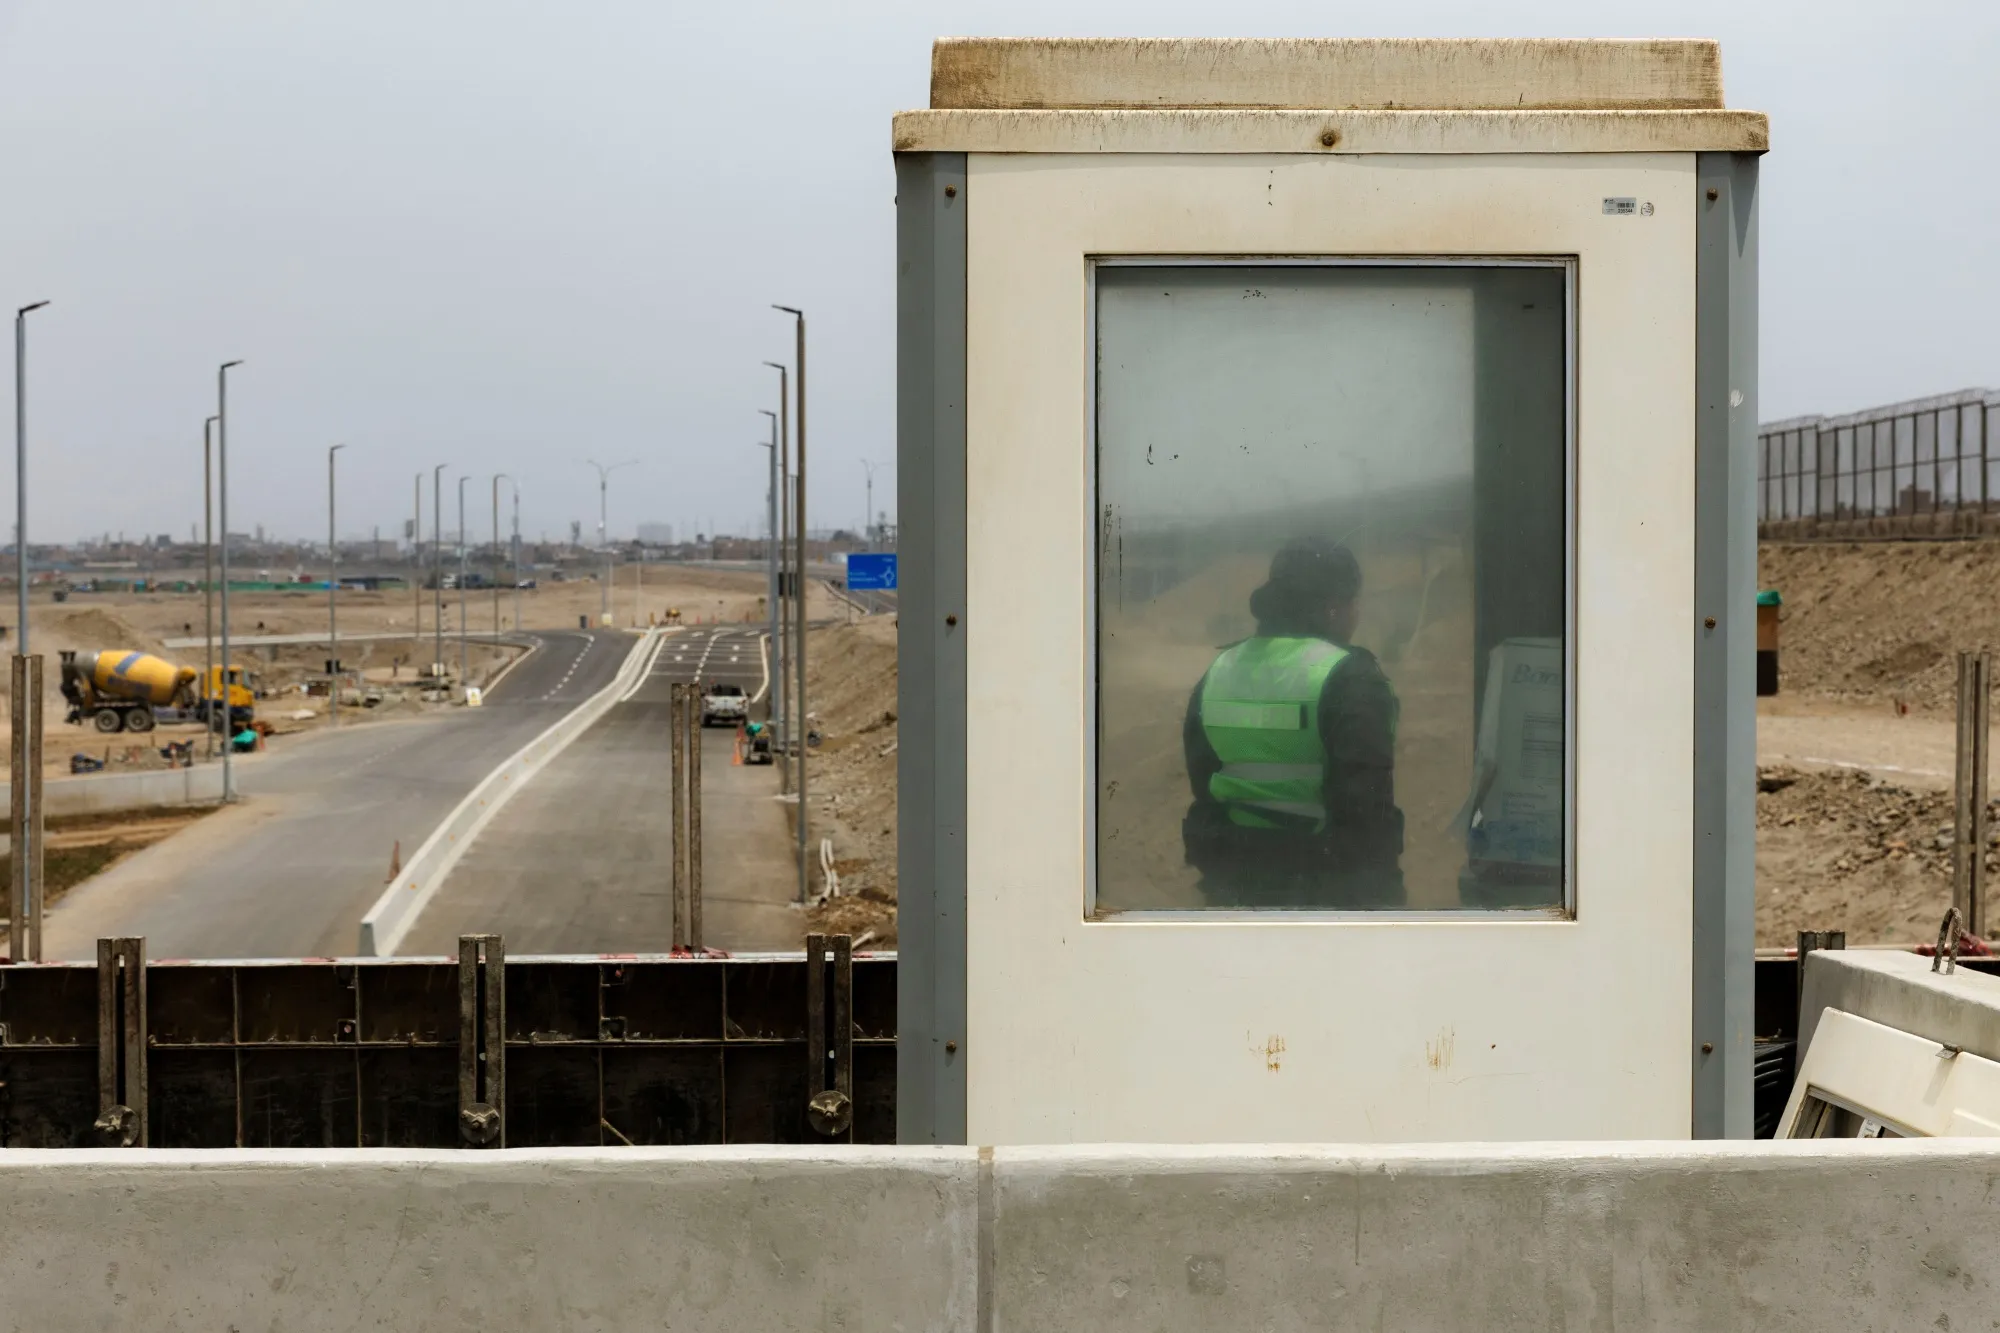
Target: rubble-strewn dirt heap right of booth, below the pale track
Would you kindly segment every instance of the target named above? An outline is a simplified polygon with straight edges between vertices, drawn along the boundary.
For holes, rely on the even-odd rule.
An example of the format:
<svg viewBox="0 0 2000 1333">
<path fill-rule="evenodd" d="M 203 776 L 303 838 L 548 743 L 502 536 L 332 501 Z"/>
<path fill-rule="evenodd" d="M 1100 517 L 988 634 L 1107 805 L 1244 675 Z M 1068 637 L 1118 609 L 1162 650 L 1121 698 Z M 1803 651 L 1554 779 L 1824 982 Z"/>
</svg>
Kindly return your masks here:
<svg viewBox="0 0 2000 1333">
<path fill-rule="evenodd" d="M 1986 869 L 2000 873 L 2000 803 Z M 1914 945 L 1952 905 L 1952 795 L 1854 769 L 1758 769 L 1756 943 L 1846 931 L 1852 945 Z"/>
</svg>

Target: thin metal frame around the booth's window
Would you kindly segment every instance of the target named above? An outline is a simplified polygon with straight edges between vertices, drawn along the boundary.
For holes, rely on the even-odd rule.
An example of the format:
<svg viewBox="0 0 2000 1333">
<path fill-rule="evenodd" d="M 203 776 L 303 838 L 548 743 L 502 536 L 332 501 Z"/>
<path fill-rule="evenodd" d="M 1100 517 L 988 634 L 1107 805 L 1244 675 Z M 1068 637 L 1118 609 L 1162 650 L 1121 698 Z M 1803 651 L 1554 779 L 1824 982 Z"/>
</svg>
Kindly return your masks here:
<svg viewBox="0 0 2000 1333">
<path fill-rule="evenodd" d="M 1098 801 L 1100 801 L 1100 719 L 1102 719 L 1102 488 L 1098 446 L 1098 270 L 1100 268 L 1554 268 L 1562 280 L 1562 901 L 1542 907 L 1442 907 L 1442 909 L 1100 909 L 1098 907 Z M 1578 783 L 1576 783 L 1576 466 L 1578 466 L 1578 366 L 1576 366 L 1576 324 L 1578 324 L 1578 268 L 1576 254 L 1086 254 L 1084 256 L 1084 348 L 1088 368 L 1084 374 L 1084 440 L 1088 494 L 1088 550 L 1090 574 L 1084 594 L 1084 640 L 1088 650 L 1086 679 L 1090 683 L 1090 703 L 1084 719 L 1084 893 L 1082 921 L 1092 927 L 1106 925 L 1166 925 L 1166 923 L 1264 923 L 1264 925 L 1368 925 L 1368 923 L 1424 923 L 1424 921 L 1564 921 L 1578 917 L 1576 893 L 1576 833 L 1578 833 Z M 1474 711 L 1480 701 L 1472 701 Z M 1474 727 L 1476 735 L 1476 727 Z"/>
</svg>

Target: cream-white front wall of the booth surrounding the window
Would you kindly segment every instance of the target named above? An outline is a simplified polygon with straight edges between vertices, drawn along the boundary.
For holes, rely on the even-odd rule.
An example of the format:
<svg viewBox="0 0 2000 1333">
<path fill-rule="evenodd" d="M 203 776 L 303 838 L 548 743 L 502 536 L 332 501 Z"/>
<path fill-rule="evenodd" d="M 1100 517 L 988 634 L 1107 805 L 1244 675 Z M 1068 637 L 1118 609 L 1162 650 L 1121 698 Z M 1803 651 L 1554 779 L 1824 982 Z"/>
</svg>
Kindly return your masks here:
<svg viewBox="0 0 2000 1333">
<path fill-rule="evenodd" d="M 1694 154 L 966 182 L 968 1139 L 1686 1137 Z M 1574 260 L 1574 913 L 1094 917 L 1100 256 Z"/>
</svg>

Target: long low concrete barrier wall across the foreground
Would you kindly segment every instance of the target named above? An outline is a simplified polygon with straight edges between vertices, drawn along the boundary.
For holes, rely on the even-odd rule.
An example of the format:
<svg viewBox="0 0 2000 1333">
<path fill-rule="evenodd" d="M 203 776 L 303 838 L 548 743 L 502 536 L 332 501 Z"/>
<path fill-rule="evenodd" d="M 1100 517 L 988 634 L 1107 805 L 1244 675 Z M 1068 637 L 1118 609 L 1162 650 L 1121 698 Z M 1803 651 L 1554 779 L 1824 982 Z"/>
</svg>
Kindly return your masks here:
<svg viewBox="0 0 2000 1333">
<path fill-rule="evenodd" d="M 0 1329 L 1966 1329 L 1972 1141 L 0 1153 Z"/>
</svg>

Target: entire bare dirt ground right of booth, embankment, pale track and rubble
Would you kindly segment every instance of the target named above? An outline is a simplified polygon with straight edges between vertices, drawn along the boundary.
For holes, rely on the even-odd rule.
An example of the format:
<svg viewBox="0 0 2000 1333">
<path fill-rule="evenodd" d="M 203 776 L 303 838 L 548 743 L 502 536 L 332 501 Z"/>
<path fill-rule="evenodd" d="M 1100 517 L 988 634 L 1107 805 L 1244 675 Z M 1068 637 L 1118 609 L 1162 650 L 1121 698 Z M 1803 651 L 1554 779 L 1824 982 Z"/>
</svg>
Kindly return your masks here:
<svg viewBox="0 0 2000 1333">
<path fill-rule="evenodd" d="M 2000 644 L 2000 542 L 1766 542 L 1758 582 L 1784 600 L 1780 693 L 1758 701 L 1758 945 L 1930 941 L 1952 901 L 1956 654 Z"/>
</svg>

